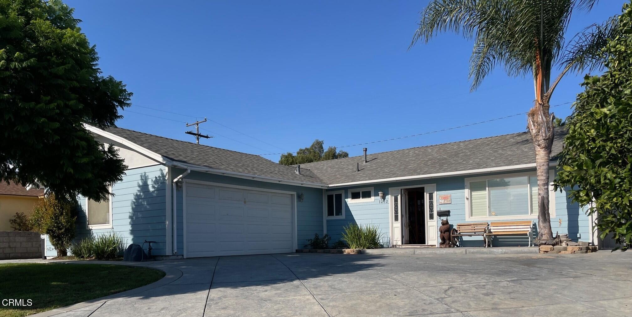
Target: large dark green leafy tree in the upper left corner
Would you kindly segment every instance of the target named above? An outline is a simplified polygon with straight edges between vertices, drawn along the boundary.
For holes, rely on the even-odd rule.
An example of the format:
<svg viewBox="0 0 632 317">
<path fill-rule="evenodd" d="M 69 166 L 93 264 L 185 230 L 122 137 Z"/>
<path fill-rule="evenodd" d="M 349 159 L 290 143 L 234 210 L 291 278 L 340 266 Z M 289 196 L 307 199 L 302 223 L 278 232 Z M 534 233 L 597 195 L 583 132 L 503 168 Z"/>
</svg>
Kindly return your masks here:
<svg viewBox="0 0 632 317">
<path fill-rule="evenodd" d="M 0 181 L 101 200 L 126 166 L 83 123 L 114 125 L 131 93 L 101 75 L 79 22 L 58 0 L 0 0 Z"/>
</svg>

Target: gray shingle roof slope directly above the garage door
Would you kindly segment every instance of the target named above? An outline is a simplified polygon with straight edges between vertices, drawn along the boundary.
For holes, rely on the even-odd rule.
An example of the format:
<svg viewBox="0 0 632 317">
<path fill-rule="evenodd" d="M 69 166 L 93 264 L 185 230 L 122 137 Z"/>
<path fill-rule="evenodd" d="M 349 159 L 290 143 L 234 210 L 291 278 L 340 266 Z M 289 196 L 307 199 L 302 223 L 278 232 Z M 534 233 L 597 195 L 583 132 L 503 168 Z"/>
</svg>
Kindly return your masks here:
<svg viewBox="0 0 632 317">
<path fill-rule="evenodd" d="M 295 167 L 277 164 L 258 155 L 197 145 L 130 129 L 112 127 L 107 128 L 106 131 L 178 162 L 287 181 L 324 184 L 308 169 L 301 169 L 301 175 L 298 175 L 295 173 Z"/>
</svg>

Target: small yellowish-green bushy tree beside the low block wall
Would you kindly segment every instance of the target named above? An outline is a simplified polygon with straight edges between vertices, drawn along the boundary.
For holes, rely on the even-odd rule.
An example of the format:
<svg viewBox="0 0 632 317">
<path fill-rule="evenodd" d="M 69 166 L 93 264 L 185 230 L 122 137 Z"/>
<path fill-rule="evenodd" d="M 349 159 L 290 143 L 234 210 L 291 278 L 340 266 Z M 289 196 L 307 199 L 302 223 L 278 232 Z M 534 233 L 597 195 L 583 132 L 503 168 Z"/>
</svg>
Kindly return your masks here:
<svg viewBox="0 0 632 317">
<path fill-rule="evenodd" d="M 58 200 L 55 194 L 47 194 L 33 206 L 30 217 L 33 230 L 47 234 L 58 256 L 68 255 L 76 234 L 76 201 Z"/>
</svg>

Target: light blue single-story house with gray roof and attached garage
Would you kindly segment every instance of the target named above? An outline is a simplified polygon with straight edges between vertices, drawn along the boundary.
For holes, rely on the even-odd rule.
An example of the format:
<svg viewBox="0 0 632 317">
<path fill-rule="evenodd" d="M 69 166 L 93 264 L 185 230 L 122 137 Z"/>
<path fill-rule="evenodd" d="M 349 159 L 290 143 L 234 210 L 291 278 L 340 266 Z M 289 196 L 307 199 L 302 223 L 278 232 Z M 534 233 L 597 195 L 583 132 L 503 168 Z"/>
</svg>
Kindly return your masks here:
<svg viewBox="0 0 632 317">
<path fill-rule="evenodd" d="M 128 170 L 111 200 L 80 199 L 78 238 L 116 232 L 126 244 L 155 241 L 155 256 L 289 253 L 316 233 L 337 241 L 351 223 L 377 225 L 384 247 L 436 246 L 437 212 L 446 210 L 453 225 L 533 220 L 537 232 L 526 132 L 288 166 L 129 129 L 87 128 L 119 149 Z M 551 177 L 563 137 L 558 129 Z M 596 243 L 592 217 L 566 191 L 550 190 L 553 233 Z M 483 242 L 463 237 L 461 244 Z M 499 236 L 492 244 L 526 246 L 528 238 Z"/>
</svg>

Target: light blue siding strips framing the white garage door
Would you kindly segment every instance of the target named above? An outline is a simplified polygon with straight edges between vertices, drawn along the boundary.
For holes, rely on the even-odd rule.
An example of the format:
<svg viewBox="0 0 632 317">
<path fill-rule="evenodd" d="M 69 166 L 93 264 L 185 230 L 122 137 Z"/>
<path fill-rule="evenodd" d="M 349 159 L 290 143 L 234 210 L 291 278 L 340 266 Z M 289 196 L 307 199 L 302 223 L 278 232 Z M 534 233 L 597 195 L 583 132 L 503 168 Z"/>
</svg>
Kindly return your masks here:
<svg viewBox="0 0 632 317">
<path fill-rule="evenodd" d="M 173 169 L 174 176 L 178 176 L 185 172 L 183 169 Z M 243 179 L 237 177 L 222 176 L 205 172 L 191 171 L 185 179 L 194 179 L 197 181 L 216 182 L 221 184 L 230 184 L 236 186 L 247 186 L 260 189 L 274 189 L 280 191 L 295 192 L 297 197 L 302 193 L 303 201 L 296 201 L 296 230 L 297 230 L 297 246 L 303 248 L 307 243 L 307 239 L 313 237 L 315 233 L 322 235 L 323 232 L 323 212 L 322 212 L 322 189 L 309 188 L 303 186 L 293 186 L 286 184 L 278 184 L 275 182 L 254 181 L 252 179 Z M 178 254 L 183 254 L 183 217 L 182 217 L 182 190 L 176 189 L 176 210 L 178 217 Z"/>
</svg>

